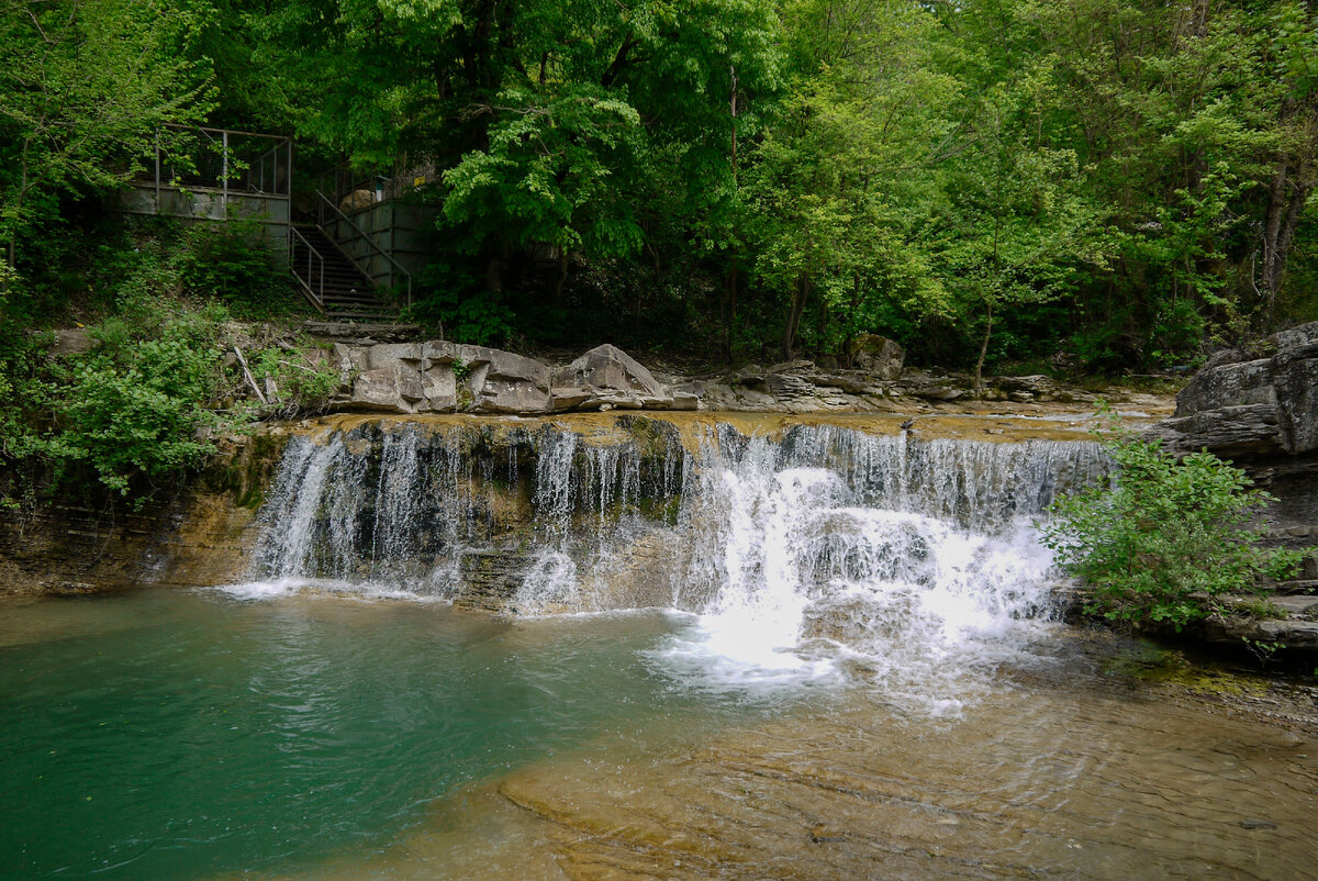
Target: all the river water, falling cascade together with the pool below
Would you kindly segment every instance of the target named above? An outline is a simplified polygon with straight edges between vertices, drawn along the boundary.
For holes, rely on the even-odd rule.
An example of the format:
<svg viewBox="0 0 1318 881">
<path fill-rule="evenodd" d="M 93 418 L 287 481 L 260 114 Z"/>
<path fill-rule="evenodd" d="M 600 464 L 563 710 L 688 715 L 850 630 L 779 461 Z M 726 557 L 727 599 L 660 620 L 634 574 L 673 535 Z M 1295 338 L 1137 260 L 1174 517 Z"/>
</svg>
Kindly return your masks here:
<svg viewBox="0 0 1318 881">
<path fill-rule="evenodd" d="M 0 877 L 1315 877 L 1311 698 L 1057 623 L 1093 444 L 469 440 L 291 443 L 244 583 L 7 603 Z"/>
</svg>

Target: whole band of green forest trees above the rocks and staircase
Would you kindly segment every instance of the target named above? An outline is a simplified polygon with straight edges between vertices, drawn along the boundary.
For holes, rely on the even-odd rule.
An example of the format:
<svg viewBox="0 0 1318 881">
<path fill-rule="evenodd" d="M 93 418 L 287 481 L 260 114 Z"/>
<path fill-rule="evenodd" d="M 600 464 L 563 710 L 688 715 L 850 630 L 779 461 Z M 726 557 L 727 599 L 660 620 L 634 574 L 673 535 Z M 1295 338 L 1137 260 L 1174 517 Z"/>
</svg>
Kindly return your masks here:
<svg viewBox="0 0 1318 881">
<path fill-rule="evenodd" d="M 51 241 L 159 123 L 206 120 L 295 135 L 308 181 L 438 169 L 415 318 L 490 319 L 471 335 L 845 360 L 880 332 L 948 365 L 1108 371 L 1318 317 L 1318 24 L 1301 0 L 0 0 L 0 16 L 11 313 L 58 297 L 41 293 Z"/>
</svg>

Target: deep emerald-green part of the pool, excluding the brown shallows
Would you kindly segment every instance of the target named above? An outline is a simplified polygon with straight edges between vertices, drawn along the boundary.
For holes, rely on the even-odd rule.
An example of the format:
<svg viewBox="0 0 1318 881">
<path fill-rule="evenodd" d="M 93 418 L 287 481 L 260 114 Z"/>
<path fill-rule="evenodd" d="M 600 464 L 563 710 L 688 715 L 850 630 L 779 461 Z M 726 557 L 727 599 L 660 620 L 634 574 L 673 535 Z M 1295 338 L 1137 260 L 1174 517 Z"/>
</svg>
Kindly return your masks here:
<svg viewBox="0 0 1318 881">
<path fill-rule="evenodd" d="M 206 877 L 372 851 L 431 799 L 697 702 L 659 615 L 138 591 L 5 608 L 0 876 Z"/>
</svg>

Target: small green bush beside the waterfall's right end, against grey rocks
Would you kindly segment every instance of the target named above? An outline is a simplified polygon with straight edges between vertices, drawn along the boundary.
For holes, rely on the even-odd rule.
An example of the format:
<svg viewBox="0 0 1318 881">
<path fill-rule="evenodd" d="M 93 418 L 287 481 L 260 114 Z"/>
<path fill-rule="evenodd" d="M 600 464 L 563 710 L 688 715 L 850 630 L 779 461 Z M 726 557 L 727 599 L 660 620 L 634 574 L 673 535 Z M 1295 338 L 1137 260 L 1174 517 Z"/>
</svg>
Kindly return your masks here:
<svg viewBox="0 0 1318 881">
<path fill-rule="evenodd" d="M 1228 593 L 1257 593 L 1298 555 L 1259 546 L 1269 496 L 1210 452 L 1182 459 L 1115 423 L 1101 437 L 1119 475 L 1057 501 L 1044 543 L 1093 587 L 1086 611 L 1132 624 L 1191 621 L 1232 612 Z"/>
</svg>

